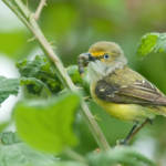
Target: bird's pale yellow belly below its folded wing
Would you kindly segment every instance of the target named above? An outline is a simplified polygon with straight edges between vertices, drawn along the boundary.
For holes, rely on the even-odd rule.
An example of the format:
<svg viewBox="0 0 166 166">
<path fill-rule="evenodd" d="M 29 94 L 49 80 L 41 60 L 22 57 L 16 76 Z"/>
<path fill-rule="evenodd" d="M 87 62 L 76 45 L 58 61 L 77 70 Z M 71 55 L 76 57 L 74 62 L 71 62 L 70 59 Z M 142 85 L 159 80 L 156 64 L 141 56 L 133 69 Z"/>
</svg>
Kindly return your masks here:
<svg viewBox="0 0 166 166">
<path fill-rule="evenodd" d="M 148 106 L 139 104 L 116 104 L 94 97 L 94 101 L 111 116 L 127 123 L 142 123 L 154 118 L 156 113 Z"/>
</svg>

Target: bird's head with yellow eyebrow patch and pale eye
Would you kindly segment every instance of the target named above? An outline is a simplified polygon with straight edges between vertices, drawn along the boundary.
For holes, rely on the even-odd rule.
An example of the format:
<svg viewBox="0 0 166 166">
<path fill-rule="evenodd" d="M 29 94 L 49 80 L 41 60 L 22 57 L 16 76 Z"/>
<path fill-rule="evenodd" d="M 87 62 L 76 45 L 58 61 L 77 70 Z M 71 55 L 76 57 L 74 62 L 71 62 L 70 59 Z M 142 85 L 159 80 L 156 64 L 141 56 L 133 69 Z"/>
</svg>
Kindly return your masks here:
<svg viewBox="0 0 166 166">
<path fill-rule="evenodd" d="M 100 80 L 127 64 L 122 49 L 114 42 L 97 42 L 84 54 L 89 56 L 87 74 L 90 81 Z"/>
</svg>

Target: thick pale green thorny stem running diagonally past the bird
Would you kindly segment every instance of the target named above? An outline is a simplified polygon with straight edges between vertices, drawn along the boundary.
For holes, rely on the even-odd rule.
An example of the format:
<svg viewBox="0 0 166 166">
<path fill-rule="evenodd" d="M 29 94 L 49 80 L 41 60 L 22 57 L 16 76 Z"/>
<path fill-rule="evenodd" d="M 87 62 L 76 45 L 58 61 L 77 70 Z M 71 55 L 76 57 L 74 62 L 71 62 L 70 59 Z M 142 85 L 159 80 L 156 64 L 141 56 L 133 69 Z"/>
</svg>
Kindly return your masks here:
<svg viewBox="0 0 166 166">
<path fill-rule="evenodd" d="M 54 70 L 56 71 L 58 76 L 60 77 L 63 85 L 72 92 L 77 92 L 76 87 L 74 86 L 73 82 L 71 81 L 70 76 L 68 75 L 66 71 L 64 70 L 62 63 L 59 61 L 58 55 L 51 49 L 49 42 L 46 41 L 45 37 L 43 35 L 42 31 L 40 30 L 39 25 L 37 24 L 33 14 L 30 10 L 21 2 L 21 0 L 2 0 L 17 15 L 18 18 L 29 28 L 29 30 L 33 33 L 38 42 L 40 43 L 42 50 L 54 63 Z M 87 123 L 95 141 L 97 142 L 100 148 L 102 151 L 108 151 L 111 147 L 104 137 L 102 131 L 100 129 L 97 123 L 93 118 L 89 107 L 82 101 L 81 103 L 81 115 Z"/>
</svg>

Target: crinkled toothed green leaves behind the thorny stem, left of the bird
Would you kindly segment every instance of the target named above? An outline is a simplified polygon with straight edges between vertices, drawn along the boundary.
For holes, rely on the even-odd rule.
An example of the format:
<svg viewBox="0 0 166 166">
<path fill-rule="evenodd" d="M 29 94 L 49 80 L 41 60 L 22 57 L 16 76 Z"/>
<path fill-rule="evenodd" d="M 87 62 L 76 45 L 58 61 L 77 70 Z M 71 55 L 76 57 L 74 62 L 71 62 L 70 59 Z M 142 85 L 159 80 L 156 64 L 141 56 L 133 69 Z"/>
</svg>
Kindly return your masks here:
<svg viewBox="0 0 166 166">
<path fill-rule="evenodd" d="M 0 76 L 0 104 L 9 97 L 9 95 L 18 95 L 19 86 L 25 85 L 29 93 L 40 95 L 42 89 L 45 89 L 48 95 L 51 93 L 60 93 L 64 87 L 51 68 L 44 55 L 37 55 L 33 61 L 22 60 L 17 62 L 17 68 L 21 74 L 18 79 L 7 79 Z M 66 69 L 73 83 L 82 87 L 84 95 L 90 95 L 90 86 L 86 76 L 80 76 L 77 66 L 72 65 Z"/>
</svg>

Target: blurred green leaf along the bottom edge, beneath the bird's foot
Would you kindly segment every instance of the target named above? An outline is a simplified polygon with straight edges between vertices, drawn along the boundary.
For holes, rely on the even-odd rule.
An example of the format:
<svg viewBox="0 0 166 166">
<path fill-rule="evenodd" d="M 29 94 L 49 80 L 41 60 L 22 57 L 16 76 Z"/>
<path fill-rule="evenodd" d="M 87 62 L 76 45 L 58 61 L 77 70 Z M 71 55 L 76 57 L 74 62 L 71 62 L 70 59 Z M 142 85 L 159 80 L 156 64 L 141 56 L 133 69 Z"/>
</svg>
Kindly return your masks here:
<svg viewBox="0 0 166 166">
<path fill-rule="evenodd" d="M 114 164 L 126 164 L 129 166 L 155 166 L 155 164 L 131 147 L 117 147 L 100 156 L 90 154 L 87 156 L 90 166 L 114 166 Z"/>
</svg>

